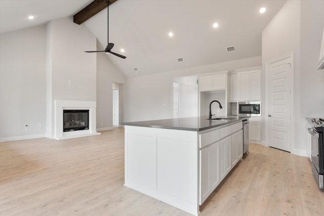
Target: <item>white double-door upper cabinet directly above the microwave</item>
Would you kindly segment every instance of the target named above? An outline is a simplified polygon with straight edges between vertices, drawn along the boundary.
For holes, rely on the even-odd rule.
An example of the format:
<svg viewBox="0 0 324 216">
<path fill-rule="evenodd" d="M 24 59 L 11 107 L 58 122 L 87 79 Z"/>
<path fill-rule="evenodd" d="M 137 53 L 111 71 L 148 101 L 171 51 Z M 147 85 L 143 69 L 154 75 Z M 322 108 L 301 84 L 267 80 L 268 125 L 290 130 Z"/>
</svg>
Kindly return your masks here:
<svg viewBox="0 0 324 216">
<path fill-rule="evenodd" d="M 230 81 L 230 101 L 261 101 L 261 67 L 235 70 Z"/>
</svg>

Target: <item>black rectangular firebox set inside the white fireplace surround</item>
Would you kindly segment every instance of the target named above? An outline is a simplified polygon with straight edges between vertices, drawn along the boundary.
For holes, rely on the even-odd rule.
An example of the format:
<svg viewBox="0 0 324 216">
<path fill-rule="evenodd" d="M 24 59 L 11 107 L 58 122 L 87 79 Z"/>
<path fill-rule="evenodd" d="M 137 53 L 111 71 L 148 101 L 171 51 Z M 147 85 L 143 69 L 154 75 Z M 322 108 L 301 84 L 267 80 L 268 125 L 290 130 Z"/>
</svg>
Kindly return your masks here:
<svg viewBox="0 0 324 216">
<path fill-rule="evenodd" d="M 63 132 L 89 129 L 89 110 L 63 110 Z"/>
</svg>

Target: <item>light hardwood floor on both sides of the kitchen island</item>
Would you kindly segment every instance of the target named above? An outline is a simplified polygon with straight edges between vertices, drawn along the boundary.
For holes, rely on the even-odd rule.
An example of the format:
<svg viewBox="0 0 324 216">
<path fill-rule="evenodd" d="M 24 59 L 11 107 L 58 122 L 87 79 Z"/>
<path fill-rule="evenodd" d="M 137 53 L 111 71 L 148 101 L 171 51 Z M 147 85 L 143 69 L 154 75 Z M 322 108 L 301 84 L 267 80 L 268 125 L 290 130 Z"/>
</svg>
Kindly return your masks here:
<svg viewBox="0 0 324 216">
<path fill-rule="evenodd" d="M 0 215 L 190 215 L 124 185 L 124 129 L 0 143 Z M 324 215 L 308 158 L 250 145 L 200 215 Z"/>
</svg>

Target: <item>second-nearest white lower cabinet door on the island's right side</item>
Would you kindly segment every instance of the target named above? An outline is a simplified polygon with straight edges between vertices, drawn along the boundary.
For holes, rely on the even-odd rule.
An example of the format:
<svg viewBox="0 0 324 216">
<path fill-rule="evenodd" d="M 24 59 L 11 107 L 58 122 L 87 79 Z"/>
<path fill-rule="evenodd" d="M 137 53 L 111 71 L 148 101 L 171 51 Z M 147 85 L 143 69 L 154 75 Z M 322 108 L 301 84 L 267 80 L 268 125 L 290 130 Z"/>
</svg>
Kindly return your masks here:
<svg viewBox="0 0 324 216">
<path fill-rule="evenodd" d="M 220 181 L 232 168 L 231 155 L 231 136 L 228 136 L 220 141 Z"/>
</svg>

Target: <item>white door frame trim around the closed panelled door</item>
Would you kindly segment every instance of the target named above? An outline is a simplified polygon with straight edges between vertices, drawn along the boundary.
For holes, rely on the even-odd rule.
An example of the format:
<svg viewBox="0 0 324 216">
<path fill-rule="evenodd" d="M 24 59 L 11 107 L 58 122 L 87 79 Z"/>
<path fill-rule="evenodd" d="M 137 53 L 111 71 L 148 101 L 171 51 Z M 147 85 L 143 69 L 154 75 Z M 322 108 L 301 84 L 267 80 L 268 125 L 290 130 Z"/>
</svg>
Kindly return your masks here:
<svg viewBox="0 0 324 216">
<path fill-rule="evenodd" d="M 280 60 L 284 60 L 287 58 L 291 58 L 291 69 L 292 69 L 292 73 L 291 73 L 291 106 L 290 106 L 290 115 L 291 115 L 291 153 L 293 153 L 295 151 L 295 122 L 294 122 L 294 92 L 295 92 L 295 84 L 294 84 L 294 53 L 288 53 L 284 56 L 280 56 L 277 57 L 275 59 L 272 59 L 270 61 L 267 61 L 265 63 L 265 103 L 267 104 L 265 106 L 265 146 L 269 146 L 269 122 L 268 122 L 268 114 L 269 114 L 269 109 L 268 109 L 268 100 L 269 100 L 269 65 L 280 61 Z"/>
</svg>

